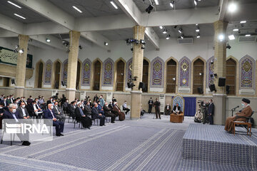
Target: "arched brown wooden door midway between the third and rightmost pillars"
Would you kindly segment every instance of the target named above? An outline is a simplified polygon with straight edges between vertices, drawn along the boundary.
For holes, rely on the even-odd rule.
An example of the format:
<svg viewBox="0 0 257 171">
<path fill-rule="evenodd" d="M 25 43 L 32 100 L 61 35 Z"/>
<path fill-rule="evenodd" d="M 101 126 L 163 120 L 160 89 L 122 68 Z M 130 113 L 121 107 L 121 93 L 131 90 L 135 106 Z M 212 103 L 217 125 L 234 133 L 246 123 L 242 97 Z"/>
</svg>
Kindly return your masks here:
<svg viewBox="0 0 257 171">
<path fill-rule="evenodd" d="M 166 93 L 176 93 L 176 61 L 168 61 L 166 70 Z"/>
</svg>

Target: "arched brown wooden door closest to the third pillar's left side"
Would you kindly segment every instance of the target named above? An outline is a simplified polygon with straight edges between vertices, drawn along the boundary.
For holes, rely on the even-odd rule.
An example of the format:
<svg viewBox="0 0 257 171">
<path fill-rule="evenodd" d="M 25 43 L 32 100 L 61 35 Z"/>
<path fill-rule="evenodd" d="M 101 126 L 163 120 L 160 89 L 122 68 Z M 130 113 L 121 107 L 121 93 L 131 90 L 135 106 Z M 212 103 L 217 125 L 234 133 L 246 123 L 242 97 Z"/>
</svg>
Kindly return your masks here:
<svg viewBox="0 0 257 171">
<path fill-rule="evenodd" d="M 124 91 L 124 66 L 123 61 L 117 63 L 116 91 Z"/>
</svg>

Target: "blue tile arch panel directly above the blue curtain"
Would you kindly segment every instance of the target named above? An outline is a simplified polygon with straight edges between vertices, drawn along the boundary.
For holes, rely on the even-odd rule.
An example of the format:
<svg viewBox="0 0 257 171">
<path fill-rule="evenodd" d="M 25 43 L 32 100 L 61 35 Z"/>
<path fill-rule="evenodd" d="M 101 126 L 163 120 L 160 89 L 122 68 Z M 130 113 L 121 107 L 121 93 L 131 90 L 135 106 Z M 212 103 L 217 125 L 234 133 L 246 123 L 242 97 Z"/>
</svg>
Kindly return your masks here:
<svg viewBox="0 0 257 171">
<path fill-rule="evenodd" d="M 178 68 L 178 74 L 179 74 L 179 87 L 183 88 L 189 88 L 191 86 L 191 61 L 189 58 L 184 56 L 179 60 L 179 68 Z"/>
</svg>

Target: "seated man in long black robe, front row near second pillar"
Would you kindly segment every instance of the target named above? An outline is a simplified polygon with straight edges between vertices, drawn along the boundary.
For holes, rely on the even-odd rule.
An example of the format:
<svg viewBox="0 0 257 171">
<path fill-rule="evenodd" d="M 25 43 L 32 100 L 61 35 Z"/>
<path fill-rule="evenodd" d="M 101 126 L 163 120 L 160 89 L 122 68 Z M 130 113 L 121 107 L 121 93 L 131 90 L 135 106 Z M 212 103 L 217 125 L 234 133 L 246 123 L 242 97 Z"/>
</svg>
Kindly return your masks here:
<svg viewBox="0 0 257 171">
<path fill-rule="evenodd" d="M 78 106 L 75 109 L 75 116 L 77 121 L 81 121 L 84 128 L 89 128 L 92 125 L 92 120 L 88 116 L 86 116 L 82 110 L 82 103 L 79 101 Z"/>
</svg>

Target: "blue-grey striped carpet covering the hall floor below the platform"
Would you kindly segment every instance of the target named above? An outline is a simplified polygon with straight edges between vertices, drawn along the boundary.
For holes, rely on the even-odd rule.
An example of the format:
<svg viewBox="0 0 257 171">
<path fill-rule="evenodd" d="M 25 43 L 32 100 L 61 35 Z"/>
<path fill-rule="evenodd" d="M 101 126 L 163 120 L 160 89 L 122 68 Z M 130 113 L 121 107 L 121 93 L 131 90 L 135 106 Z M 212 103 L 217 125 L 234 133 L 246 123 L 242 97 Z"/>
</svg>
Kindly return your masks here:
<svg viewBox="0 0 257 171">
<path fill-rule="evenodd" d="M 153 114 L 129 120 L 126 115 L 122 122 L 94 125 L 91 130 L 65 123 L 65 136 L 51 142 L 32 142 L 29 147 L 4 142 L 0 170 L 252 170 L 183 159 L 183 136 L 193 118 L 180 124 L 168 120 L 168 116 L 153 119 Z"/>
</svg>

